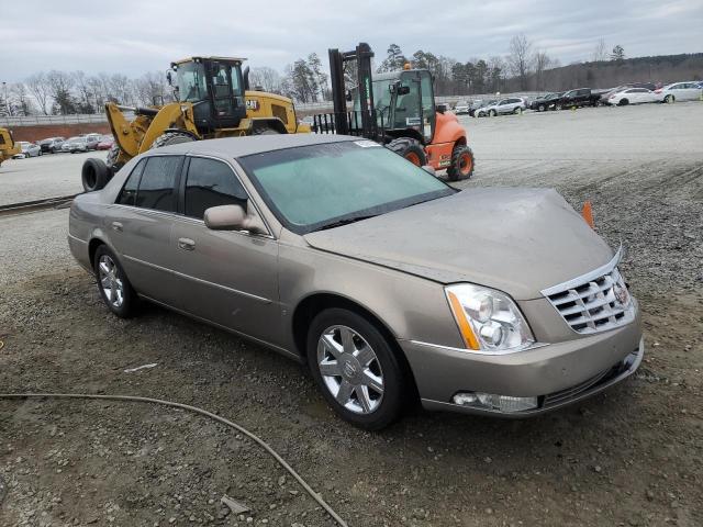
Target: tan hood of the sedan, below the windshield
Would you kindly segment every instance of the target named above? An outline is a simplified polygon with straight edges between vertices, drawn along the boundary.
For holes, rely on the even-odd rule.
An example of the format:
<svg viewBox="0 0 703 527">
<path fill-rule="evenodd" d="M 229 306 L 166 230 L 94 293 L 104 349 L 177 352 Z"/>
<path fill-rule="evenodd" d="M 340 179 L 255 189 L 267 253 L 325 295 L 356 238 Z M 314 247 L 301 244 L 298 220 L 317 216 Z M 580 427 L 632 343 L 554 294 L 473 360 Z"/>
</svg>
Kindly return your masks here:
<svg viewBox="0 0 703 527">
<path fill-rule="evenodd" d="M 304 235 L 310 246 L 440 283 L 540 291 L 607 264 L 613 250 L 556 191 L 471 189 Z"/>
</svg>

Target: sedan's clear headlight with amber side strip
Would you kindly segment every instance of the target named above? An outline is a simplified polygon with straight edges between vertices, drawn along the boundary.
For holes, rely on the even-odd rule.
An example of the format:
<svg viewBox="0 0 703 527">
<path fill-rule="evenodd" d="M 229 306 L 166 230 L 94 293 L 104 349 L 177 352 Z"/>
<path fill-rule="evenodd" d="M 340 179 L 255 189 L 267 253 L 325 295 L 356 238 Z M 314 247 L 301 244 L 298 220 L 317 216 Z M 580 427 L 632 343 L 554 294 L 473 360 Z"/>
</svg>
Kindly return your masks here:
<svg viewBox="0 0 703 527">
<path fill-rule="evenodd" d="M 449 285 L 445 292 L 467 349 L 520 351 L 535 343 L 507 294 L 470 283 Z"/>
</svg>

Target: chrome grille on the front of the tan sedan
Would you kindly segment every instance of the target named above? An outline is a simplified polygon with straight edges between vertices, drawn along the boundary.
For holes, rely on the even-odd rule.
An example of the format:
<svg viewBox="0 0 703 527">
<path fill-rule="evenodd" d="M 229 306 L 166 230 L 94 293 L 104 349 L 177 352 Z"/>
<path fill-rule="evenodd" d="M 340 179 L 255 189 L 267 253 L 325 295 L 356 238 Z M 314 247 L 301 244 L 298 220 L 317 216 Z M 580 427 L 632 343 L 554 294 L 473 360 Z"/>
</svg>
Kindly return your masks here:
<svg viewBox="0 0 703 527">
<path fill-rule="evenodd" d="M 613 329 L 635 318 L 635 305 L 617 270 L 621 251 L 607 265 L 542 293 L 577 333 Z"/>
</svg>

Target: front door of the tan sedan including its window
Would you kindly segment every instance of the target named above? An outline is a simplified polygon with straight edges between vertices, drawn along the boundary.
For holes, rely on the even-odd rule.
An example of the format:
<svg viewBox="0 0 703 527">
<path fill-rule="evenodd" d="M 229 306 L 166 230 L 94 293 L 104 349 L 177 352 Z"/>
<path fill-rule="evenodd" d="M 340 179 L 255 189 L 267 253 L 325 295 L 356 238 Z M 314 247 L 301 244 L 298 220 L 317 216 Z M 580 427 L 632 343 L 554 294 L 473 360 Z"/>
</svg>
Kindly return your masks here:
<svg viewBox="0 0 703 527">
<path fill-rule="evenodd" d="M 238 204 L 256 213 L 234 170 L 208 157 L 189 157 L 181 184 L 182 214 L 170 253 L 181 292 L 179 309 L 252 337 L 280 344 L 278 242 L 246 231 L 211 231 L 211 206 Z"/>
</svg>

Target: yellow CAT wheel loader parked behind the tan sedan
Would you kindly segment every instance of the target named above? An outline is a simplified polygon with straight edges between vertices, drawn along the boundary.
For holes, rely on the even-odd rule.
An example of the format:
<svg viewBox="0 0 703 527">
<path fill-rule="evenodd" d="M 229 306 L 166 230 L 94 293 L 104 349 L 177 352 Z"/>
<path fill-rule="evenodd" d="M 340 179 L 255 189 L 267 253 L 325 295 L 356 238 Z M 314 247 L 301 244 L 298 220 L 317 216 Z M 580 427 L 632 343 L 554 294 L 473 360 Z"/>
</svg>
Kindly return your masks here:
<svg viewBox="0 0 703 527">
<path fill-rule="evenodd" d="M 131 108 L 109 102 L 105 113 L 114 146 L 107 164 L 88 159 L 81 179 L 86 192 L 103 188 L 122 166 L 148 150 L 176 143 L 259 134 L 310 133 L 299 125 L 293 101 L 248 90 L 244 58 L 189 57 L 171 63 L 167 74 L 176 102 Z M 125 112 L 134 117 L 129 120 Z"/>
</svg>

